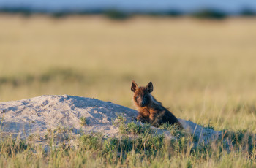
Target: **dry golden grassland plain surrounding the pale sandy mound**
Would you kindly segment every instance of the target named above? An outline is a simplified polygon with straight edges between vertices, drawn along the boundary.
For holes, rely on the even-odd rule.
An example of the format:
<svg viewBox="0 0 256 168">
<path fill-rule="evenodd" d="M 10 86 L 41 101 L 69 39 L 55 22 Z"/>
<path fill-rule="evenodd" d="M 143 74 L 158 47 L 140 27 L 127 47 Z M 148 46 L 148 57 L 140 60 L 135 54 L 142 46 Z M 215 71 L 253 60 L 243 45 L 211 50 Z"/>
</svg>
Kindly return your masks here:
<svg viewBox="0 0 256 168">
<path fill-rule="evenodd" d="M 127 155 L 122 159 L 118 152 L 99 153 L 108 147 L 102 140 L 93 150 L 54 150 L 50 155 L 41 153 L 41 158 L 23 143 L 13 143 L 9 150 L 4 145 L 12 144 L 9 140 L 1 145 L 1 165 L 255 167 L 255 152 L 244 147 L 245 138 L 252 140 L 255 150 L 255 18 L 116 21 L 100 16 L 1 15 L 0 20 L 1 102 L 69 94 L 132 107 L 131 80 L 139 85 L 152 81 L 153 95 L 178 118 L 228 129 L 236 134 L 233 142 L 243 144 L 238 143 L 243 150 L 223 150 L 222 143 L 213 143 L 194 153 L 181 145 L 182 149 L 167 153 L 170 143 L 162 143 L 159 149 L 164 152 L 146 155 L 144 150 L 124 150 Z M 13 152 L 17 148 L 20 153 Z"/>
</svg>

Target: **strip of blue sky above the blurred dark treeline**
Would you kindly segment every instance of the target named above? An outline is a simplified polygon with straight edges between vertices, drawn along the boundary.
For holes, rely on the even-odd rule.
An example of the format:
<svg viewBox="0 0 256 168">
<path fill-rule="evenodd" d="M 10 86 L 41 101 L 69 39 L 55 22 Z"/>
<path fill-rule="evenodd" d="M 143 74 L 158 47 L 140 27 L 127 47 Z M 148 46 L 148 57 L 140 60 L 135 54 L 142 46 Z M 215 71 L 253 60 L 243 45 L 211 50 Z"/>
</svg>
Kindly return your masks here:
<svg viewBox="0 0 256 168">
<path fill-rule="evenodd" d="M 46 12 L 119 9 L 124 12 L 165 12 L 176 9 L 189 13 L 200 9 L 219 9 L 236 14 L 242 9 L 256 12 L 256 0 L 0 0 L 3 7 L 29 7 Z"/>
</svg>

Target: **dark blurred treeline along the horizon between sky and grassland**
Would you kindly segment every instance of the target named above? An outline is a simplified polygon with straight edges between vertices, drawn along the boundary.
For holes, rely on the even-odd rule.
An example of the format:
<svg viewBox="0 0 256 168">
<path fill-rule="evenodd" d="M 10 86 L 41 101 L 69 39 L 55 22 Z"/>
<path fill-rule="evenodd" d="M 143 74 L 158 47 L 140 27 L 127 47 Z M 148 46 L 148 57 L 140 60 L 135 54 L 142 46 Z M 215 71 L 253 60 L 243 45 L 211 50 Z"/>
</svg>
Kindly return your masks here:
<svg viewBox="0 0 256 168">
<path fill-rule="evenodd" d="M 29 17 L 34 14 L 50 15 L 53 18 L 63 18 L 68 15 L 105 15 L 107 18 L 114 20 L 124 20 L 132 18 L 135 15 L 151 15 L 151 16 L 165 16 L 165 17 L 181 17 L 184 15 L 190 15 L 195 18 L 209 18 L 209 19 L 224 19 L 230 16 L 230 13 L 221 9 L 199 9 L 195 12 L 183 12 L 179 9 L 170 9 L 165 12 L 125 12 L 119 9 L 85 9 L 74 11 L 45 11 L 34 10 L 30 7 L 0 7 L 0 13 L 4 14 L 20 14 Z M 256 11 L 248 7 L 244 7 L 236 16 L 250 17 L 255 16 Z"/>
</svg>

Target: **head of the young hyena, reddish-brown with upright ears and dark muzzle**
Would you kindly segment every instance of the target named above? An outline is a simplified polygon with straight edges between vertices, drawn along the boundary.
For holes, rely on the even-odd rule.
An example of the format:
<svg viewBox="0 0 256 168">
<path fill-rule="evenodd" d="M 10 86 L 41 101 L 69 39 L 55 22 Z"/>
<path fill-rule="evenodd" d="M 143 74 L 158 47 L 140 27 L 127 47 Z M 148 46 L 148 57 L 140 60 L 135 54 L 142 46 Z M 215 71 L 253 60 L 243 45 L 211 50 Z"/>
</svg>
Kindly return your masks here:
<svg viewBox="0 0 256 168">
<path fill-rule="evenodd" d="M 134 92 L 133 101 L 138 107 L 144 107 L 151 102 L 150 93 L 153 91 L 153 84 L 151 82 L 146 87 L 138 87 L 137 83 L 132 80 L 131 90 Z"/>
</svg>

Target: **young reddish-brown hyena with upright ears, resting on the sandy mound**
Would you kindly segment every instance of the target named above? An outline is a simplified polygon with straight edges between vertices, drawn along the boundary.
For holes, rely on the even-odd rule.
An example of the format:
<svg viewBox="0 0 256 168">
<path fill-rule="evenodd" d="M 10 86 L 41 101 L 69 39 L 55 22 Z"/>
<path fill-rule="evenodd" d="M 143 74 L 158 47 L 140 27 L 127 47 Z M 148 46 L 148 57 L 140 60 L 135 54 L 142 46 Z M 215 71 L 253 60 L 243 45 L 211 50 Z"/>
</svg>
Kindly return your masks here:
<svg viewBox="0 0 256 168">
<path fill-rule="evenodd" d="M 132 81 L 131 90 L 134 92 L 133 102 L 139 112 L 137 120 L 151 123 L 156 127 L 162 123 L 176 123 L 182 128 L 178 119 L 151 95 L 153 91 L 151 82 L 146 87 L 138 87 L 137 83 Z"/>
</svg>

